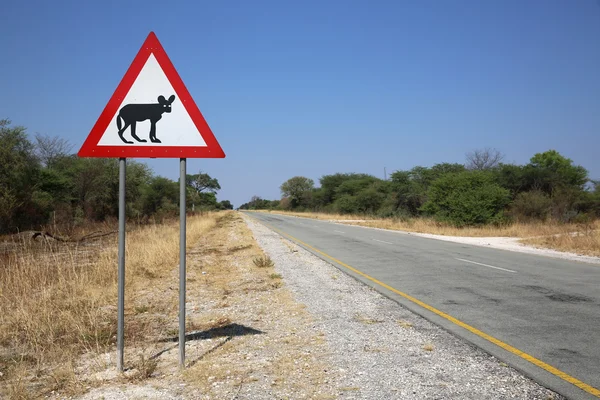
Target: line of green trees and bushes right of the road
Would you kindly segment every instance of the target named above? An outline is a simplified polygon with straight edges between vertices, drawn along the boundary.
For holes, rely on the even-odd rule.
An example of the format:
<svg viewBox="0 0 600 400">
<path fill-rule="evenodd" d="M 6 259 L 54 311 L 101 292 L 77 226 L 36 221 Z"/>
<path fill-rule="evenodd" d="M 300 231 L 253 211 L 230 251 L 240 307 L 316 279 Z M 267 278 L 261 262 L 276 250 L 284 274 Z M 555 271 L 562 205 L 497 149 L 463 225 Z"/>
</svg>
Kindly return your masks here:
<svg viewBox="0 0 600 400">
<path fill-rule="evenodd" d="M 494 149 L 467 154 L 465 164 L 440 163 L 395 171 L 387 180 L 361 173 L 285 181 L 277 202 L 253 199 L 247 208 L 430 217 L 455 226 L 600 217 L 600 182 L 555 150 L 526 165 L 505 164 Z M 260 201 L 259 201 L 260 200 Z"/>
</svg>

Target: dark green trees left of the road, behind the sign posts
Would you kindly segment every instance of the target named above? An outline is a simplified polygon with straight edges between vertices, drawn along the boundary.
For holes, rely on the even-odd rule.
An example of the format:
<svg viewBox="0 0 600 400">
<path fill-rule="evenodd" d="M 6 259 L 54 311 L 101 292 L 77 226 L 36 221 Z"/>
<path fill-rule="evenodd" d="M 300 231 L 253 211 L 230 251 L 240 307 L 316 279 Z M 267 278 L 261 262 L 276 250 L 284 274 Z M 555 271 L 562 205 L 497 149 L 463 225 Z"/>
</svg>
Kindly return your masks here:
<svg viewBox="0 0 600 400">
<path fill-rule="evenodd" d="M 0 233 L 49 223 L 73 227 L 118 216 L 118 160 L 79 158 L 64 139 L 36 135 L 0 120 Z M 187 209 L 232 209 L 218 202 L 221 186 L 208 174 L 187 175 Z M 128 161 L 126 214 L 140 222 L 178 215 L 179 183 Z"/>
</svg>

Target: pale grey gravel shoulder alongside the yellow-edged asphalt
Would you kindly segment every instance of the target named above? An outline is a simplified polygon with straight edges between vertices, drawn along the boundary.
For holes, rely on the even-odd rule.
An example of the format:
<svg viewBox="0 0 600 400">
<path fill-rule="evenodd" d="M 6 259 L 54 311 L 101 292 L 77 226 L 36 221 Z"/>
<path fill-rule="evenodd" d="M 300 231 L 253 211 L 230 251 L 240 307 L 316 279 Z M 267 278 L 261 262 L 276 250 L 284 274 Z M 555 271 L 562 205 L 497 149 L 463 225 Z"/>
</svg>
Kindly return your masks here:
<svg viewBox="0 0 600 400">
<path fill-rule="evenodd" d="M 344 399 L 562 399 L 244 216 L 323 332 Z"/>
</svg>

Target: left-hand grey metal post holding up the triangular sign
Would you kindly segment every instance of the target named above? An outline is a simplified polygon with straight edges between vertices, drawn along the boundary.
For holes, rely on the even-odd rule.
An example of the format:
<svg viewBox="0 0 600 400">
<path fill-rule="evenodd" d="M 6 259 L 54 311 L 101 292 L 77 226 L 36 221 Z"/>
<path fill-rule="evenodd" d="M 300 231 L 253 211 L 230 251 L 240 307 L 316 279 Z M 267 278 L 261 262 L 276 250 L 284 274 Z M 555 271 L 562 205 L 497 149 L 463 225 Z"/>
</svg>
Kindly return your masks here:
<svg viewBox="0 0 600 400">
<path fill-rule="evenodd" d="M 117 370 L 119 372 L 123 372 L 125 319 L 125 160 L 119 158 L 119 299 L 117 305 Z"/>
</svg>

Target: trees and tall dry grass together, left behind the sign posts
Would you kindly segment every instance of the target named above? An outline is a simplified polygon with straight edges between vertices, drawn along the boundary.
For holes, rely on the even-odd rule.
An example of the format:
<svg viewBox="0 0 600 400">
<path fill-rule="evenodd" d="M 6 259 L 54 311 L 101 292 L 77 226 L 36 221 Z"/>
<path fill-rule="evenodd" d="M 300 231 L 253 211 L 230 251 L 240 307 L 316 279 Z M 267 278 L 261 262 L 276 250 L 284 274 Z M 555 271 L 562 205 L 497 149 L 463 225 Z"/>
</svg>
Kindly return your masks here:
<svg viewBox="0 0 600 400">
<path fill-rule="evenodd" d="M 81 390 L 76 362 L 116 340 L 118 161 L 79 158 L 64 139 L 0 120 L 0 398 Z M 186 176 L 188 243 L 215 225 L 221 186 Z M 175 291 L 141 293 L 176 269 L 179 182 L 128 161 L 128 343 L 156 335 Z M 160 300 L 160 301 L 158 301 Z M 154 316 L 156 317 L 154 317 Z M 149 373 L 152 362 L 138 368 Z"/>
</svg>

